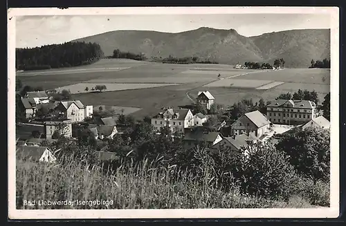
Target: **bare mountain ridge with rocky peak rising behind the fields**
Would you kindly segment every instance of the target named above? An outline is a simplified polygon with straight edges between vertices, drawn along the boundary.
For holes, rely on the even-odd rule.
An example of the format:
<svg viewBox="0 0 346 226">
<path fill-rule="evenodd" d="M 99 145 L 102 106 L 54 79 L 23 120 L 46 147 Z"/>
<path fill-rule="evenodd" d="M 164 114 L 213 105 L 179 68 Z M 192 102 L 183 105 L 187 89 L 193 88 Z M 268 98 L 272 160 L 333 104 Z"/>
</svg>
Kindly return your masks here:
<svg viewBox="0 0 346 226">
<path fill-rule="evenodd" d="M 271 32 L 244 37 L 237 31 L 199 28 L 179 33 L 141 30 L 116 30 L 73 41 L 100 44 L 104 55 L 118 48 L 147 57 L 187 57 L 215 60 L 221 64 L 269 62 L 285 59 L 287 67 L 310 65 L 311 59 L 329 58 L 330 30 L 307 29 Z"/>
</svg>

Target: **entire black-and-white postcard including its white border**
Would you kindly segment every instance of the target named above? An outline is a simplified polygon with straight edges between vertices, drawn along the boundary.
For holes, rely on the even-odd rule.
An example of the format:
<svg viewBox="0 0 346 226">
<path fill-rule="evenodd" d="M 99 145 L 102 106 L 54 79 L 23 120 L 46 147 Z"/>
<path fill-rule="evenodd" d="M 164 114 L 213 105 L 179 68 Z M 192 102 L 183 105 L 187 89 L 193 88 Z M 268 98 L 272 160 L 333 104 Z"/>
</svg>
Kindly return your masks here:
<svg viewBox="0 0 346 226">
<path fill-rule="evenodd" d="M 338 216 L 338 8 L 97 12 L 8 10 L 10 217 Z"/>
</svg>

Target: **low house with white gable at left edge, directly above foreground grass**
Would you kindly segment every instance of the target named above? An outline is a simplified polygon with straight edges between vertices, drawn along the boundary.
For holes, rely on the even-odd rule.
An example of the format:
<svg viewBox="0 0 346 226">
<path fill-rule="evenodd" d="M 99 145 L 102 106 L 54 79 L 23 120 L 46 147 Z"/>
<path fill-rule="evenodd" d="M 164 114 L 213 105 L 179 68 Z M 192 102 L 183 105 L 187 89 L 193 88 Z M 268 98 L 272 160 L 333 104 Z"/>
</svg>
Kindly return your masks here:
<svg viewBox="0 0 346 226">
<path fill-rule="evenodd" d="M 56 158 L 47 147 L 21 145 L 16 147 L 17 158 L 34 162 L 55 162 Z"/>
</svg>

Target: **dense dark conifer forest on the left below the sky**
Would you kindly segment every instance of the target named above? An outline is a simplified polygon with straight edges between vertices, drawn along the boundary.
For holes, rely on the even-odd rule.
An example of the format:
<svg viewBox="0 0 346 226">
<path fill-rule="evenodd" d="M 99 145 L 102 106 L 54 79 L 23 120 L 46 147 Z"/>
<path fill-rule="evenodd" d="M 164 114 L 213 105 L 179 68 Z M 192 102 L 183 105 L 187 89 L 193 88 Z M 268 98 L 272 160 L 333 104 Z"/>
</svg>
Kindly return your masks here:
<svg viewBox="0 0 346 226">
<path fill-rule="evenodd" d="M 104 56 L 99 44 L 84 41 L 65 42 L 35 48 L 16 49 L 17 70 L 43 70 L 82 66 Z"/>
</svg>

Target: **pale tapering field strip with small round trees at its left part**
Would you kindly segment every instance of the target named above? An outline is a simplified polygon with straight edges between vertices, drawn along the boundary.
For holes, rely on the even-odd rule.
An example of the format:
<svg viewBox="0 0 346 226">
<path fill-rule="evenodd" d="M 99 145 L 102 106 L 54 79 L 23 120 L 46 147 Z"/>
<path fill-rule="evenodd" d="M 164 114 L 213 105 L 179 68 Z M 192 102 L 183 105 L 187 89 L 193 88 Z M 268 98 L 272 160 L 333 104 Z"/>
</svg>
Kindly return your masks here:
<svg viewBox="0 0 346 226">
<path fill-rule="evenodd" d="M 160 87 L 160 86 L 173 86 L 177 84 L 136 84 L 136 83 L 78 83 L 73 84 L 69 86 L 63 86 L 60 88 L 55 88 L 57 92 L 61 92 L 62 90 L 66 89 L 67 91 L 70 91 L 71 94 L 75 93 L 92 93 L 97 92 L 93 91 L 92 89 L 95 88 L 95 86 L 103 86 L 105 85 L 107 89 L 104 91 L 125 91 L 125 90 L 131 90 L 131 89 L 140 89 L 140 88 L 154 88 L 154 87 Z M 88 88 L 88 91 L 86 91 L 86 87 Z M 102 91 L 102 92 L 104 92 Z"/>
</svg>

